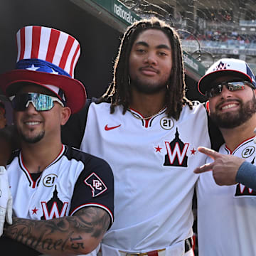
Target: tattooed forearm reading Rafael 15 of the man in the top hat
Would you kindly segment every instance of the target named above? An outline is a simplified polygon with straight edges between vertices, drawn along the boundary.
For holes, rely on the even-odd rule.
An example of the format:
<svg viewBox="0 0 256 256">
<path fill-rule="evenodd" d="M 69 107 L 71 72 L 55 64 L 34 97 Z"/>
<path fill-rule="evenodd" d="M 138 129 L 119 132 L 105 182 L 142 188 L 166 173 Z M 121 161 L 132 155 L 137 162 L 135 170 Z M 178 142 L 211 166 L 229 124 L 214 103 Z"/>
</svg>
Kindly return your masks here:
<svg viewBox="0 0 256 256">
<path fill-rule="evenodd" d="M 39 252 L 79 255 L 97 247 L 109 225 L 110 216 L 105 210 L 90 207 L 78 210 L 74 216 L 51 220 L 14 217 L 4 234 Z"/>
</svg>

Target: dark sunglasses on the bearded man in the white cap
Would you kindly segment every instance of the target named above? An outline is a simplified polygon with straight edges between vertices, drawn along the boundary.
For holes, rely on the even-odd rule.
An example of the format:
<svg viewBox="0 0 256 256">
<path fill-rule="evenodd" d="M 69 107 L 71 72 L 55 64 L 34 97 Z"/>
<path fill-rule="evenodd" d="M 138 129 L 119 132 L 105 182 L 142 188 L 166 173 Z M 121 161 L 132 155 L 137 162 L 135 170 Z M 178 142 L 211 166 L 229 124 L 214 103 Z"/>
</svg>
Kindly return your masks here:
<svg viewBox="0 0 256 256">
<path fill-rule="evenodd" d="M 230 91 L 236 91 L 245 89 L 245 85 L 249 85 L 255 89 L 255 87 L 248 81 L 221 82 L 220 84 L 211 87 L 209 90 L 206 90 L 206 97 L 210 98 L 220 95 L 223 90 L 223 86 Z"/>
</svg>

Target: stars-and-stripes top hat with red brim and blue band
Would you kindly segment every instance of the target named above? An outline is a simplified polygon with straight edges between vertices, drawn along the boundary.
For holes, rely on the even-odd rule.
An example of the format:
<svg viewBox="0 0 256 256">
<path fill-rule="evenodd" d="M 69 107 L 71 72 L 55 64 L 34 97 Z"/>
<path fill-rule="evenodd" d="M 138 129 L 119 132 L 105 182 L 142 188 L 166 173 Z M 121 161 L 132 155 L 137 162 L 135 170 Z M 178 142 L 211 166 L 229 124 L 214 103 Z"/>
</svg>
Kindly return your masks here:
<svg viewBox="0 0 256 256">
<path fill-rule="evenodd" d="M 75 113 L 85 105 L 82 82 L 74 79 L 80 44 L 62 31 L 43 26 L 25 26 L 16 33 L 16 69 L 0 75 L 4 94 L 15 94 L 18 82 L 33 82 L 48 88 Z"/>
</svg>

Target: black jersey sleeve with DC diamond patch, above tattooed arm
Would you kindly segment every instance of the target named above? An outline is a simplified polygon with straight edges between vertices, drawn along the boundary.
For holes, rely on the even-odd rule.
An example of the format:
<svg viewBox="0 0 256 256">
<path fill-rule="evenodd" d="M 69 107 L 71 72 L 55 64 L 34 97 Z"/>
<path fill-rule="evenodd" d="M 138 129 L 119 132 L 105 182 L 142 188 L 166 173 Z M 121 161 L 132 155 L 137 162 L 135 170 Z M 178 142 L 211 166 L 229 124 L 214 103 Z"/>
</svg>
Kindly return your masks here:
<svg viewBox="0 0 256 256">
<path fill-rule="evenodd" d="M 70 215 L 87 206 L 99 207 L 114 220 L 114 176 L 103 159 L 81 152 L 86 157 L 84 169 L 75 183 Z"/>
</svg>

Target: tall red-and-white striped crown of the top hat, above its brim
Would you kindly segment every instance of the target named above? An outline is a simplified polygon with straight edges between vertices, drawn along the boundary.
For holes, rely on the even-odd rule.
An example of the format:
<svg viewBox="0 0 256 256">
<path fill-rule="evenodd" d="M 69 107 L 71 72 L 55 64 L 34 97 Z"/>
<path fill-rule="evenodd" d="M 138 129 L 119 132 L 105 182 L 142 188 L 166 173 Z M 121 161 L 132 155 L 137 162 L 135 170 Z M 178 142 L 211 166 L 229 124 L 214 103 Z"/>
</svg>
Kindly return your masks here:
<svg viewBox="0 0 256 256">
<path fill-rule="evenodd" d="M 80 45 L 73 36 L 54 28 L 26 26 L 17 32 L 16 40 L 18 48 L 16 68 L 21 68 L 18 67 L 18 63 L 22 63 L 21 60 L 45 60 L 48 65 L 53 64 L 52 73 L 58 72 L 59 75 L 70 75 L 74 78 L 75 65 L 80 56 Z M 47 72 L 41 70 L 42 68 L 36 67 L 34 70 Z M 63 70 L 68 74 L 63 73 Z"/>
</svg>

